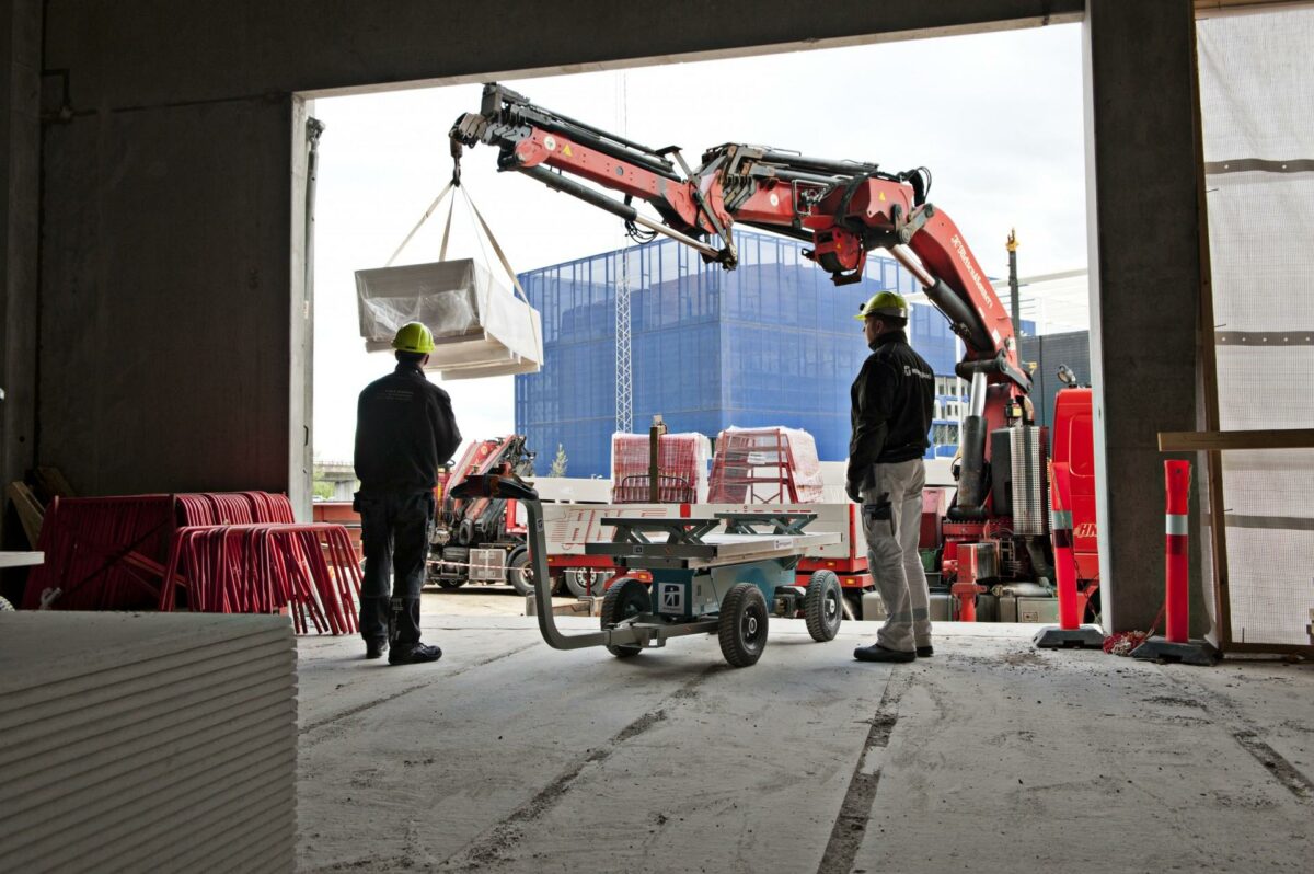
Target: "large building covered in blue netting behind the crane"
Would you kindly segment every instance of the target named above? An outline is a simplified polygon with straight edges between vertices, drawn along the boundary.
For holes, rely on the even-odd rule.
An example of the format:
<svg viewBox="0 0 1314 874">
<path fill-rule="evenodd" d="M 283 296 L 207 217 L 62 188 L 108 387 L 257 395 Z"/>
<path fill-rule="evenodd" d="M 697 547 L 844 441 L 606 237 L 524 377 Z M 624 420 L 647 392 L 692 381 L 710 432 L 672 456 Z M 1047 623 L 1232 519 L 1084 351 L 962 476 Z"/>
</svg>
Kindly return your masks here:
<svg viewBox="0 0 1314 874">
<path fill-rule="evenodd" d="M 623 276 L 635 430 L 657 413 L 671 431 L 710 438 L 729 426 L 786 426 L 809 431 L 824 461 L 848 456 L 849 386 L 869 354 L 853 315 L 880 289 L 917 292 L 916 280 L 872 256 L 861 284 L 836 287 L 799 242 L 750 231 L 736 231 L 736 242 L 735 271 L 664 239 L 520 273 L 543 314 L 545 363 L 515 377 L 515 427 L 539 452 L 540 473 L 560 444 L 568 476 L 610 476 Z M 947 377 L 946 394 L 957 390 L 959 347 L 943 315 L 913 306 L 909 334 Z M 957 419 L 942 425 L 957 438 Z"/>
</svg>

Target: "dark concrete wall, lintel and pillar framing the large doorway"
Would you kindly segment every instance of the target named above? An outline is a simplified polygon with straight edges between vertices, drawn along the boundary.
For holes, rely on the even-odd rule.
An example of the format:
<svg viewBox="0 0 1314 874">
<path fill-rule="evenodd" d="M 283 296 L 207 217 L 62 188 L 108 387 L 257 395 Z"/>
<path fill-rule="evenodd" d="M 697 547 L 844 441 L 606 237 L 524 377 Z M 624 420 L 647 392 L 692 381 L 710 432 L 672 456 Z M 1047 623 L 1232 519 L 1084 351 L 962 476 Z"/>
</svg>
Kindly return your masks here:
<svg viewBox="0 0 1314 874">
<path fill-rule="evenodd" d="M 49 0 L 41 66 L 49 92 L 67 88 L 67 121 L 42 152 L 37 457 L 88 493 L 307 484 L 294 92 L 1025 26 L 1085 5 Z M 1093 309 L 1117 336 L 1095 351 L 1117 495 L 1106 580 L 1126 627 L 1159 598 L 1154 434 L 1194 426 L 1190 4 L 1088 5 Z M 916 88 L 861 84 L 882 81 Z"/>
</svg>

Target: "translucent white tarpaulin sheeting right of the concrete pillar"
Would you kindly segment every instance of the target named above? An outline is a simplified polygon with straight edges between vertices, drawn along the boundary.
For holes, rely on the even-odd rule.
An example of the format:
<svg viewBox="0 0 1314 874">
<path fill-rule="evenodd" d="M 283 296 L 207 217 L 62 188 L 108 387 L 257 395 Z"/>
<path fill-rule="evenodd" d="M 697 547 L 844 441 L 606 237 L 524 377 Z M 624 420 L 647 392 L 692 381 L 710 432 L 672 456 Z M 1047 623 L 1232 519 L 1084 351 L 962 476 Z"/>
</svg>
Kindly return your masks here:
<svg viewBox="0 0 1314 874">
<path fill-rule="evenodd" d="M 1219 427 L 1310 428 L 1314 9 L 1204 18 L 1197 42 Z M 1314 449 L 1222 465 L 1231 639 L 1307 645 Z"/>
</svg>

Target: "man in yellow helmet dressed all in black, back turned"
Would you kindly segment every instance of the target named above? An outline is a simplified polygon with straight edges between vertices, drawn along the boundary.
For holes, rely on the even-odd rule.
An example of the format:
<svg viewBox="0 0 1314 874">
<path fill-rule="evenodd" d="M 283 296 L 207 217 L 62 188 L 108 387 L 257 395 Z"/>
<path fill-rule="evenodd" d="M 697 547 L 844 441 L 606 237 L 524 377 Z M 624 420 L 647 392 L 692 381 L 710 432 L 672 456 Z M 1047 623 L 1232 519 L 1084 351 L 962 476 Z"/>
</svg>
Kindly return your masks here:
<svg viewBox="0 0 1314 874">
<path fill-rule="evenodd" d="M 443 651 L 419 641 L 419 597 L 434 524 L 438 468 L 461 444 L 447 392 L 424 377 L 434 335 L 419 322 L 393 339 L 397 369 L 360 393 L 356 477 L 365 552 L 360 633 L 365 658 L 385 649 L 392 665 L 438 661 Z M 389 586 L 389 572 L 392 585 Z M 390 598 L 389 598 L 390 594 Z"/>
</svg>

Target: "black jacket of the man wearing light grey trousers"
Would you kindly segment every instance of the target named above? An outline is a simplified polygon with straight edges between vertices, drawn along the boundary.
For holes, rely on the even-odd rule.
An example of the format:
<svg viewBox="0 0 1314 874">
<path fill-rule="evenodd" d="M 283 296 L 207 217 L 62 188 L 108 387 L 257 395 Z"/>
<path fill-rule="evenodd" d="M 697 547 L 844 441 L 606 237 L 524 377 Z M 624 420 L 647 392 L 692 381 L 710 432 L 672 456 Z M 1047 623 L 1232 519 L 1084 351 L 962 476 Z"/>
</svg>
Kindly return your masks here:
<svg viewBox="0 0 1314 874">
<path fill-rule="evenodd" d="M 926 453 L 936 375 L 926 359 L 908 346 L 901 330 L 887 331 L 872 342 L 849 398 L 849 482 L 861 488 L 872 464 L 896 464 Z"/>
</svg>

